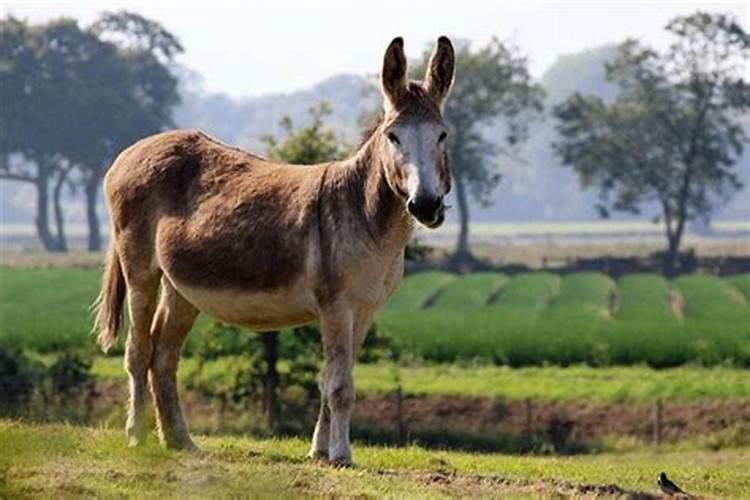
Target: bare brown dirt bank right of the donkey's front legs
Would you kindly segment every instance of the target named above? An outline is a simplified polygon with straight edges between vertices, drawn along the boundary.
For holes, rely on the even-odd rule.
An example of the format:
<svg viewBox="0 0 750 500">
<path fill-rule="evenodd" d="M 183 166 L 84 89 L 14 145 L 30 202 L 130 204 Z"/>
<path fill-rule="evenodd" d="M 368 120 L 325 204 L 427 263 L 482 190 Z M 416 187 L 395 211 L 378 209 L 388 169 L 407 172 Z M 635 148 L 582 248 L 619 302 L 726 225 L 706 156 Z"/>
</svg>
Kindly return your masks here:
<svg viewBox="0 0 750 500">
<path fill-rule="evenodd" d="M 477 435 L 562 432 L 574 441 L 608 436 L 654 439 L 656 404 L 597 404 L 586 401 L 496 401 L 475 397 L 407 397 L 403 419 L 410 430 Z M 360 397 L 354 421 L 379 427 L 397 422 L 395 397 Z M 677 442 L 750 426 L 750 401 L 663 403 L 661 439 Z"/>
</svg>

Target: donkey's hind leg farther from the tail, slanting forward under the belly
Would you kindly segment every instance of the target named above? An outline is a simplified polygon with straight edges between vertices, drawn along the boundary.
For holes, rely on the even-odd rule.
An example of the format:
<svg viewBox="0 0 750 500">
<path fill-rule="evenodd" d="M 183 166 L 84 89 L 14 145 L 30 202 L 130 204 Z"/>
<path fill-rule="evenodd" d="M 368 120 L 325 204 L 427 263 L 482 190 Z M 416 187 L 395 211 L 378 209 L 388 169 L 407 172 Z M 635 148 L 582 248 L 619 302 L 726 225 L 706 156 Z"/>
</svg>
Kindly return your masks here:
<svg viewBox="0 0 750 500">
<path fill-rule="evenodd" d="M 190 438 L 177 394 L 177 365 L 185 337 L 198 310 L 165 277 L 153 325 L 154 355 L 151 393 L 157 411 L 159 436 L 168 448 L 196 450 Z"/>
</svg>

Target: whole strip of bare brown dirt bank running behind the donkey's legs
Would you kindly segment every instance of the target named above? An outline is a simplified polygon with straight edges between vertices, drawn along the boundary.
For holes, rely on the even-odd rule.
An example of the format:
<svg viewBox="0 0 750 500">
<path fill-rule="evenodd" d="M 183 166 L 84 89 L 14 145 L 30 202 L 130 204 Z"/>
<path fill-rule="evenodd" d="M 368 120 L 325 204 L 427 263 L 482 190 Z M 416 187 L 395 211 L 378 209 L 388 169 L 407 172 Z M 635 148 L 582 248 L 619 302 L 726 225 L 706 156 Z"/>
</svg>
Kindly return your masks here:
<svg viewBox="0 0 750 500">
<path fill-rule="evenodd" d="M 97 385 L 98 408 L 124 408 L 127 384 L 106 381 Z M 196 393 L 183 391 L 183 407 L 192 426 L 211 433 L 224 433 L 222 422 L 236 423 L 247 415 L 227 410 Z M 402 400 L 401 419 L 410 436 L 473 436 L 477 443 L 541 437 L 543 441 L 590 444 L 604 438 L 655 440 L 657 405 L 592 403 L 586 401 L 500 401 L 460 396 L 407 396 Z M 311 409 L 311 411 L 314 409 Z M 312 411 L 313 414 L 317 413 Z M 311 415 L 313 417 L 314 415 Z M 394 395 L 360 395 L 354 406 L 352 427 L 365 438 L 394 440 L 398 434 L 398 403 Z M 229 432 L 237 432 L 231 426 Z M 255 426 L 256 429 L 258 426 Z M 248 429 L 250 430 L 250 429 Z M 373 433 L 373 431 L 377 431 Z M 661 405 L 660 439 L 664 443 L 694 440 L 715 433 L 750 431 L 750 400 L 665 402 Z M 432 443 L 459 443 L 462 439 Z M 424 444 L 429 445 L 429 442 Z M 489 445 L 493 447 L 492 444 Z"/>
</svg>

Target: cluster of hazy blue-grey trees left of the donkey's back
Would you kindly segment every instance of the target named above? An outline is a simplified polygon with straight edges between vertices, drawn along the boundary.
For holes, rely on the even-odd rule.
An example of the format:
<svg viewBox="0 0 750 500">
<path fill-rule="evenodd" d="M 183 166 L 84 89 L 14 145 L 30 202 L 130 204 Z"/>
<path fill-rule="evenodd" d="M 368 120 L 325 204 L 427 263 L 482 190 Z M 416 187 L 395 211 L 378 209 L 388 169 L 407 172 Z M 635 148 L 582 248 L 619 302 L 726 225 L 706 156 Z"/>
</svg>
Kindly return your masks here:
<svg viewBox="0 0 750 500">
<path fill-rule="evenodd" d="M 101 248 L 104 173 L 124 147 L 172 125 L 179 95 L 170 63 L 182 50 L 158 23 L 128 12 L 83 28 L 73 19 L 0 21 L 0 179 L 35 187 L 46 250 L 67 250 L 66 187 L 84 195 L 88 249 Z"/>
</svg>

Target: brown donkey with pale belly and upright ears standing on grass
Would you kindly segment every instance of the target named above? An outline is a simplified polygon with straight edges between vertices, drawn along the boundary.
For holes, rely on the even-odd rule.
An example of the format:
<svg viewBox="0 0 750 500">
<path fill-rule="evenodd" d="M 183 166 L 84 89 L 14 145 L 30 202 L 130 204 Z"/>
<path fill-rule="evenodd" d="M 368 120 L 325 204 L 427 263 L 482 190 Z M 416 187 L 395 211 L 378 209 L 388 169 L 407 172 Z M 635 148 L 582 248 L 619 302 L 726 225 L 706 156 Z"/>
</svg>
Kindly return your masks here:
<svg viewBox="0 0 750 500">
<path fill-rule="evenodd" d="M 415 221 L 436 228 L 445 218 L 442 106 L 454 67 L 440 37 L 424 81 L 410 81 L 395 38 L 381 73 L 383 117 L 343 161 L 281 164 L 189 130 L 120 153 L 104 179 L 112 241 L 94 331 L 108 350 L 127 298 L 131 446 L 147 434 L 149 378 L 161 441 L 197 449 L 175 374 L 199 311 L 256 331 L 318 320 L 324 367 L 309 456 L 351 464 L 354 360 L 403 276 Z"/>
</svg>

